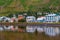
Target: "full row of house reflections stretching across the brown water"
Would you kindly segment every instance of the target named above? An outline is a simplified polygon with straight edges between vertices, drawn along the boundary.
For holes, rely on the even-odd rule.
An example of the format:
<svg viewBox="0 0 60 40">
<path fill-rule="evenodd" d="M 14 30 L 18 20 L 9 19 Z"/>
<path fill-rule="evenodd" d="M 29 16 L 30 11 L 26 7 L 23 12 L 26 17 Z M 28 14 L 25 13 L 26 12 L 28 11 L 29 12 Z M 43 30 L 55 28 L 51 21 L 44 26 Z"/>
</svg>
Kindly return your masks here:
<svg viewBox="0 0 60 40">
<path fill-rule="evenodd" d="M 13 31 L 13 32 L 29 32 L 34 33 L 37 30 L 37 32 L 42 33 L 44 32 L 46 35 L 49 36 L 56 36 L 60 34 L 60 28 L 59 27 L 41 27 L 41 26 L 5 26 L 0 25 L 0 31 Z"/>
</svg>

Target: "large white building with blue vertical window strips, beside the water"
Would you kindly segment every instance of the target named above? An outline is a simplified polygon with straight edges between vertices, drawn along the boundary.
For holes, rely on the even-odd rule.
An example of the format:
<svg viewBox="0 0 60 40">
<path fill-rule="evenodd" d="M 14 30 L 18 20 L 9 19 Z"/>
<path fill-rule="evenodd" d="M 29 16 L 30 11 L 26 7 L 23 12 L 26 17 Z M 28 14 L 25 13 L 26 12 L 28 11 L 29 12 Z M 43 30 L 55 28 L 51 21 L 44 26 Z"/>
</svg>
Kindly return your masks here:
<svg viewBox="0 0 60 40">
<path fill-rule="evenodd" d="M 45 22 L 48 22 L 48 23 L 53 23 L 53 22 L 59 22 L 59 17 L 60 15 L 57 15 L 57 14 L 48 14 L 45 16 Z"/>
</svg>

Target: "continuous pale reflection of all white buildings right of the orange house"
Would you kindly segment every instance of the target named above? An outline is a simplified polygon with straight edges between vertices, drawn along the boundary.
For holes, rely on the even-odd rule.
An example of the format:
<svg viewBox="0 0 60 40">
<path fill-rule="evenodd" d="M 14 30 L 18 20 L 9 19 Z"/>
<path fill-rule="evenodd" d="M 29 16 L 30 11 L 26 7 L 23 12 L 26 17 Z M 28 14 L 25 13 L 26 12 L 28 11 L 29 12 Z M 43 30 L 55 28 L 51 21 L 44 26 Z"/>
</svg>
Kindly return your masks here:
<svg viewBox="0 0 60 40">
<path fill-rule="evenodd" d="M 41 26 L 27 26 L 26 31 L 30 33 L 34 33 L 37 30 L 37 32 L 42 33 L 44 32 L 46 35 L 49 36 L 56 36 L 60 34 L 60 28 L 59 27 L 41 27 Z"/>
</svg>

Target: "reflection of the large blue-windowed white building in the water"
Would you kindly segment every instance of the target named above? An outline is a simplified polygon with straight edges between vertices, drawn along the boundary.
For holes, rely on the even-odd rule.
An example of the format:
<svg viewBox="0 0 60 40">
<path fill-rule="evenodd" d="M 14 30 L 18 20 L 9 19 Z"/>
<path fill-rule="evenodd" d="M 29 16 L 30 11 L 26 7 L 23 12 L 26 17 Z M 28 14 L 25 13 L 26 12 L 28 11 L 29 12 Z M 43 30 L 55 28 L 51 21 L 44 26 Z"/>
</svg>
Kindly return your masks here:
<svg viewBox="0 0 60 40">
<path fill-rule="evenodd" d="M 58 27 L 44 27 L 44 32 L 49 36 L 56 36 L 59 34 L 60 29 Z"/>
</svg>

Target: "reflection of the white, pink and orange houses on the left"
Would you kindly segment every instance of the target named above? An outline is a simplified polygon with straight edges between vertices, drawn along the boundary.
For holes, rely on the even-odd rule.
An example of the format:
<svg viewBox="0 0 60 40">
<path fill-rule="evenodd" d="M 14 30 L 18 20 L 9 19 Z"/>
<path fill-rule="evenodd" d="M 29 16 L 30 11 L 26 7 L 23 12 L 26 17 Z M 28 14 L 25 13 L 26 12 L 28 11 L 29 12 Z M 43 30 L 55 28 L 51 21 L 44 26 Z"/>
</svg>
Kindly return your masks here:
<svg viewBox="0 0 60 40">
<path fill-rule="evenodd" d="M 0 31 L 18 31 L 18 32 L 25 32 L 24 27 L 21 26 L 5 26 L 5 25 L 0 25 Z"/>
</svg>

